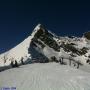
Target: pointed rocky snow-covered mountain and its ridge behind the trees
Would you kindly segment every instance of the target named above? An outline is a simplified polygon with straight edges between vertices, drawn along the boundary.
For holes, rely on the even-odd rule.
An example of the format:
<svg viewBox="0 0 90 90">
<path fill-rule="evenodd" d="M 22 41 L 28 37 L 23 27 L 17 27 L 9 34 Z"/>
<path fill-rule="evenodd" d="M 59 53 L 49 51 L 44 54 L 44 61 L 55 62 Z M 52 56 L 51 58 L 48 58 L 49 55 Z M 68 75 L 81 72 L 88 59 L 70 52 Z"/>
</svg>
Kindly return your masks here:
<svg viewBox="0 0 90 90">
<path fill-rule="evenodd" d="M 25 63 L 33 61 L 46 62 L 55 57 L 79 61 L 87 64 L 90 58 L 90 44 L 85 37 L 61 37 L 38 24 L 32 34 L 16 47 L 0 55 L 0 66 L 8 66 L 11 61 L 21 60 Z"/>
</svg>

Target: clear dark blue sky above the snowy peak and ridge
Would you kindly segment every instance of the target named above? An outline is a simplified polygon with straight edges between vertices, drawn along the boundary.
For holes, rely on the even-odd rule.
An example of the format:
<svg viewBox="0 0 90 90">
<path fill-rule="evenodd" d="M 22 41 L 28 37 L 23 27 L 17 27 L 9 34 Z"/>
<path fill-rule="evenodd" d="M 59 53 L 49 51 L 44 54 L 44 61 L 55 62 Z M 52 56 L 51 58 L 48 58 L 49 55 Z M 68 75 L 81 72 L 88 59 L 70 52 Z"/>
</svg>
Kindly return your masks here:
<svg viewBox="0 0 90 90">
<path fill-rule="evenodd" d="M 43 24 L 57 35 L 82 36 L 90 30 L 90 3 L 61 0 L 0 0 L 0 53 Z"/>
</svg>

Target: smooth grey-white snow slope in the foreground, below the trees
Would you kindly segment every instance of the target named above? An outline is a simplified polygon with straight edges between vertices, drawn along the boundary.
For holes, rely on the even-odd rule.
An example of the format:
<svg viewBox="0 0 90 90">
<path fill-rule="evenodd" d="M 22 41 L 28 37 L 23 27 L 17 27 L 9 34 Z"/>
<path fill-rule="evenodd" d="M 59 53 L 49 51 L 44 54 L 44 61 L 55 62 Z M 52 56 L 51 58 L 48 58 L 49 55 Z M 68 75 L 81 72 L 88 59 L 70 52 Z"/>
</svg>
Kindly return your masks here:
<svg viewBox="0 0 90 90">
<path fill-rule="evenodd" d="M 16 90 L 90 90 L 90 73 L 59 63 L 36 63 L 0 72 L 0 87 Z"/>
</svg>

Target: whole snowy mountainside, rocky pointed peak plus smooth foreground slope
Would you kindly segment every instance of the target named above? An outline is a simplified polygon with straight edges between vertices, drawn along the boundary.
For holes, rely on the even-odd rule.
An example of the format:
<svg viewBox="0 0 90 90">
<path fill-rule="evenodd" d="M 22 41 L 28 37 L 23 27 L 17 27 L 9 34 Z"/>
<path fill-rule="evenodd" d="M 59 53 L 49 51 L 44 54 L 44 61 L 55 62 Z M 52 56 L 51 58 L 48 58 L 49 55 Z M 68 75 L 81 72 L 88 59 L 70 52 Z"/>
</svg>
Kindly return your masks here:
<svg viewBox="0 0 90 90">
<path fill-rule="evenodd" d="M 88 40 L 89 41 L 89 40 Z M 53 56 L 59 63 L 34 63 L 0 72 L 0 89 L 16 90 L 90 90 L 90 44 L 85 36 L 56 36 L 41 24 L 16 47 L 0 55 L 0 69 L 11 61 L 48 62 Z M 35 61 L 36 60 L 36 61 Z M 69 66 L 69 61 L 72 65 Z M 74 64 L 81 63 L 77 68 Z M 73 68 L 74 67 L 74 68 Z"/>
</svg>

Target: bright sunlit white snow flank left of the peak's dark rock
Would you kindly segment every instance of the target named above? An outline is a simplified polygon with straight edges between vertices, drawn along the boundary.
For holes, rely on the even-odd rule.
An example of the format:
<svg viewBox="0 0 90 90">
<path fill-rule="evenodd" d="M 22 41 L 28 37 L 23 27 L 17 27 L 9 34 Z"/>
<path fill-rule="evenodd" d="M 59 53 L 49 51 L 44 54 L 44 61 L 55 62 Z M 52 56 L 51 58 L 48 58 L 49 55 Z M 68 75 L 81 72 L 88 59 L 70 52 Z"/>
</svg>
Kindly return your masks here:
<svg viewBox="0 0 90 90">
<path fill-rule="evenodd" d="M 21 42 L 16 47 L 1 54 L 0 55 L 0 66 L 10 65 L 11 60 L 17 60 L 19 62 L 22 57 L 24 58 L 24 60 L 27 60 L 27 58 L 31 58 L 30 54 L 28 53 L 28 48 L 30 46 L 31 39 L 34 37 L 35 33 L 39 29 L 40 29 L 40 24 L 36 26 L 31 36 L 26 38 L 23 42 Z"/>
</svg>

